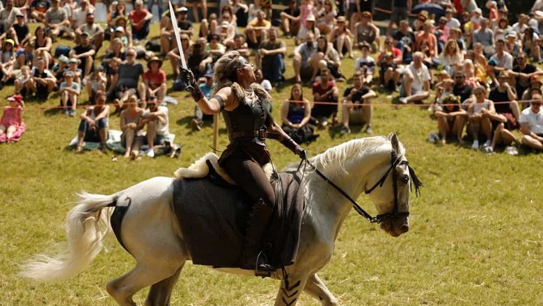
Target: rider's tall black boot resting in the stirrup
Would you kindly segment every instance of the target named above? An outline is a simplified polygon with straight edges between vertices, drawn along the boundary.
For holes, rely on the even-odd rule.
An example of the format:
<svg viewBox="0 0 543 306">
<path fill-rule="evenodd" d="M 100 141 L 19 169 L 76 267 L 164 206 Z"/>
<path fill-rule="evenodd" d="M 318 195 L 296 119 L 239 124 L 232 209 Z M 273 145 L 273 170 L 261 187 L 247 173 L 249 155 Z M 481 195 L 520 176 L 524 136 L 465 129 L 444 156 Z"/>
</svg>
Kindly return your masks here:
<svg viewBox="0 0 543 306">
<path fill-rule="evenodd" d="M 260 200 L 254 204 L 249 216 L 241 267 L 254 269 L 256 276 L 266 277 L 275 270 L 273 266 L 268 264 L 267 257 L 262 252 L 262 236 L 268 228 L 269 219 L 272 217 L 273 212 L 274 209 Z"/>
</svg>

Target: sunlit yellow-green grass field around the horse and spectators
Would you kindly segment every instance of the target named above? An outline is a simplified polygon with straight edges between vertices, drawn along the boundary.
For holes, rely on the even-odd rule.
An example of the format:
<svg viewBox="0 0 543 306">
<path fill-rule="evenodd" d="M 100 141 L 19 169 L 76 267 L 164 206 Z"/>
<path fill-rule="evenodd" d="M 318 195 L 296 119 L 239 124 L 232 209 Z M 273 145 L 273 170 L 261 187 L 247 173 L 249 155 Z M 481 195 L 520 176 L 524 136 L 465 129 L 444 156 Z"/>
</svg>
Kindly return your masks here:
<svg viewBox="0 0 543 306">
<path fill-rule="evenodd" d="M 157 25 L 152 25 L 152 34 Z M 70 42 L 61 40 L 58 43 Z M 288 41 L 292 54 L 292 40 Z M 103 52 L 103 51 L 102 51 Z M 287 79 L 293 77 L 292 57 L 287 59 Z M 352 60 L 343 72 L 352 75 Z M 171 74 L 165 62 L 163 69 Z M 171 79 L 168 84 L 171 85 Z M 340 92 L 347 83 L 339 83 Z M 6 86 L 0 97 L 13 93 Z M 290 83 L 274 92 L 274 115 L 288 98 Z M 310 89 L 304 88 L 306 96 Z M 116 305 L 105 283 L 126 273 L 134 260 L 117 243 L 107 239 L 108 252 L 97 256 L 78 277 L 61 283 L 40 283 L 17 277 L 19 264 L 38 252 L 49 252 L 64 241 L 63 223 L 74 193 L 114 193 L 157 175 L 172 175 L 210 152 L 212 128 L 193 132 L 189 122 L 194 102 L 184 92 L 170 108 L 171 132 L 182 145 L 180 159 L 158 156 L 141 161 L 112 154 L 74 154 L 68 142 L 79 119 L 30 102 L 24 113 L 28 131 L 22 141 L 0 145 L 3 179 L 0 183 L 0 305 Z M 85 95 L 81 101 L 86 101 Z M 6 105 L 7 102 L 1 102 Z M 543 305 L 542 255 L 542 154 L 486 156 L 481 152 L 427 143 L 436 122 L 420 106 L 391 107 L 386 95 L 375 101 L 373 131 L 397 132 L 407 157 L 423 181 L 421 198 L 411 201 L 411 230 L 397 239 L 370 225 L 354 211 L 338 236 L 330 264 L 320 277 L 341 305 Z M 118 129 L 118 115 L 110 126 Z M 360 128 L 340 136 L 339 129 L 320 131 L 320 138 L 306 146 L 310 155 L 352 138 Z M 219 150 L 227 144 L 221 122 Z M 274 141 L 269 144 L 280 168 L 297 157 Z M 368 198 L 358 199 L 375 214 Z M 278 282 L 256 277 L 218 273 L 187 264 L 174 290 L 172 305 L 273 305 Z M 147 291 L 134 297 L 143 305 Z M 302 296 L 298 305 L 320 305 Z"/>
</svg>

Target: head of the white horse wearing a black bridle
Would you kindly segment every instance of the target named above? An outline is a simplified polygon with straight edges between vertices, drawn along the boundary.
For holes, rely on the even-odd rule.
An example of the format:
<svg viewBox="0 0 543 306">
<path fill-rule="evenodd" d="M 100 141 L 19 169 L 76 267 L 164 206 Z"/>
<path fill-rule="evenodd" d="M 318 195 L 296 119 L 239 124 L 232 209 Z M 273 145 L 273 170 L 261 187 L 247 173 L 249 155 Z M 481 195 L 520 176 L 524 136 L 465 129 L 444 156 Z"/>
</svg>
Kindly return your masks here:
<svg viewBox="0 0 543 306">
<path fill-rule="evenodd" d="M 417 194 L 422 184 L 405 159 L 405 150 L 398 136 L 391 134 L 388 140 L 392 151 L 388 159 L 369 172 L 365 193 L 375 204 L 381 229 L 396 237 L 409 231 L 411 184 L 414 184 Z"/>
</svg>

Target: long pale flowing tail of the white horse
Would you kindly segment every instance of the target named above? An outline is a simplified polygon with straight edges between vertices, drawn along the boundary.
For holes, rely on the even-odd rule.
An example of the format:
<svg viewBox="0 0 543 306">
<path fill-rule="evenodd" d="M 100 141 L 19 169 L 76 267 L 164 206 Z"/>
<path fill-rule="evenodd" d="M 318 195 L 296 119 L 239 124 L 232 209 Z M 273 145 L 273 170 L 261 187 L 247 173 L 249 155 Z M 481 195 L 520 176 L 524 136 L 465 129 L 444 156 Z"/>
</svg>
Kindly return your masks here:
<svg viewBox="0 0 543 306">
<path fill-rule="evenodd" d="M 67 245 L 58 255 L 36 255 L 23 264 L 19 275 L 47 282 L 66 280 L 81 273 L 102 250 L 111 229 L 109 216 L 118 195 L 78 194 L 79 204 L 66 218 Z"/>
</svg>

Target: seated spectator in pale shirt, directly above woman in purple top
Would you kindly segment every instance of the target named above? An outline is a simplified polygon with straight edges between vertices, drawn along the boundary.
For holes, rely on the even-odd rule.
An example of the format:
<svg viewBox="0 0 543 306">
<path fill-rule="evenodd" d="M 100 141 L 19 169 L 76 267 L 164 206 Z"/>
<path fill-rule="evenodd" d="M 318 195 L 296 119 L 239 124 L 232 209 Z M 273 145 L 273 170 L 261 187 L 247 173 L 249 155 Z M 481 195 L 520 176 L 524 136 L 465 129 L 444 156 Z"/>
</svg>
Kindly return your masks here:
<svg viewBox="0 0 543 306">
<path fill-rule="evenodd" d="M 301 83 L 301 79 L 310 80 L 313 72 L 318 68 L 317 42 L 315 35 L 309 33 L 306 42 L 294 48 L 294 81 Z M 311 80 L 312 81 L 312 80 Z"/>
</svg>

